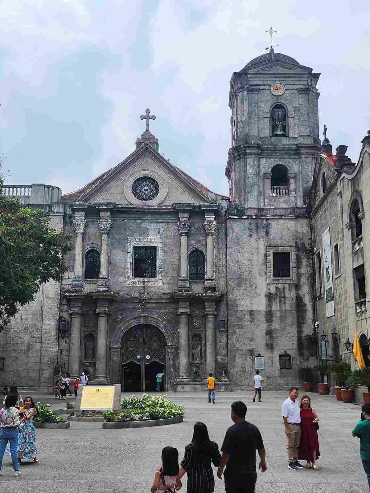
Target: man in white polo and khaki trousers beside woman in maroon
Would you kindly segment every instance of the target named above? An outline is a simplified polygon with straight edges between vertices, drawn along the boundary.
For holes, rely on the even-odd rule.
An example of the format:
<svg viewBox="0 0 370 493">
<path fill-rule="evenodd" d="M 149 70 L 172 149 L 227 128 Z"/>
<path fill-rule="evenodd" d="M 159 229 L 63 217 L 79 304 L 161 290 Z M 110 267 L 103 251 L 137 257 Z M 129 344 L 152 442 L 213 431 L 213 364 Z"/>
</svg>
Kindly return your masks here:
<svg viewBox="0 0 370 493">
<path fill-rule="evenodd" d="M 284 422 L 284 431 L 287 435 L 287 454 L 288 468 L 292 471 L 304 469 L 304 466 L 298 462 L 298 445 L 300 441 L 300 409 L 296 398 L 298 389 L 291 387 L 289 397 L 283 402 L 281 415 Z"/>
</svg>

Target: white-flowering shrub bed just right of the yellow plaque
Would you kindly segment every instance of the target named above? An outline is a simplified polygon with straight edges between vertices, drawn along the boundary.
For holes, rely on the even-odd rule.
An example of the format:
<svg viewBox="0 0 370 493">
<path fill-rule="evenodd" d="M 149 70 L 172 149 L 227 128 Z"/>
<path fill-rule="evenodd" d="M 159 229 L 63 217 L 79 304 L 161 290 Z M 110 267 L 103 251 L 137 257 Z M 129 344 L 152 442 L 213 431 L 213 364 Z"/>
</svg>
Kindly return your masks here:
<svg viewBox="0 0 370 493">
<path fill-rule="evenodd" d="M 178 406 L 162 396 L 143 394 L 141 397 L 132 395 L 121 401 L 122 413 L 114 413 L 111 409 L 104 413 L 108 423 L 129 421 L 153 421 L 180 419 L 184 416 L 184 407 Z"/>
</svg>

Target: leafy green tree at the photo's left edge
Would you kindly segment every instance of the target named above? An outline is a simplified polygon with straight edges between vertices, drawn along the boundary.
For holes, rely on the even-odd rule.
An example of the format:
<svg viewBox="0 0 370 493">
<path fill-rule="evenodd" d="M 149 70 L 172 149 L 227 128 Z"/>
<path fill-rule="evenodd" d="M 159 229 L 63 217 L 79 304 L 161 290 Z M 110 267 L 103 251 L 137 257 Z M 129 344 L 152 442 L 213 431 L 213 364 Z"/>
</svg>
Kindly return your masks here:
<svg viewBox="0 0 370 493">
<path fill-rule="evenodd" d="M 34 301 L 42 282 L 61 280 L 63 255 L 71 250 L 70 235 L 50 227 L 44 211 L 21 207 L 2 187 L 0 176 L 0 332 Z"/>
</svg>

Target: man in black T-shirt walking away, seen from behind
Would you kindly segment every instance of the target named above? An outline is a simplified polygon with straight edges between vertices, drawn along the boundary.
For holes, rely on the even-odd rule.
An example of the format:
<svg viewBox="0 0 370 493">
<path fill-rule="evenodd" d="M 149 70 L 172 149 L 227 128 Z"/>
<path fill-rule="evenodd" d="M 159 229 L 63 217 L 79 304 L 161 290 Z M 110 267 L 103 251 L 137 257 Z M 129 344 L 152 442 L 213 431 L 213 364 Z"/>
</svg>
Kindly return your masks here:
<svg viewBox="0 0 370 493">
<path fill-rule="evenodd" d="M 257 471 L 256 450 L 259 453 L 259 469 L 265 472 L 266 453 L 259 429 L 245 421 L 247 406 L 236 401 L 231 404 L 231 419 L 235 423 L 226 431 L 221 447 L 222 456 L 217 476 L 222 479 L 225 470 L 226 493 L 255 493 Z"/>
</svg>

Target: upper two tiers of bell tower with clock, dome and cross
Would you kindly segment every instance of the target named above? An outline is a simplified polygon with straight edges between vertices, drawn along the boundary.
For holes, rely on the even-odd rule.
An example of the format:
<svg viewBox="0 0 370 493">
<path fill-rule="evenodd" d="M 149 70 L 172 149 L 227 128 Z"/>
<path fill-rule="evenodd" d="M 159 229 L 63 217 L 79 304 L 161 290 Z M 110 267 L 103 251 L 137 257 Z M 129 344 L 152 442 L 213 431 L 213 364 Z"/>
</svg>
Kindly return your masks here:
<svg viewBox="0 0 370 493">
<path fill-rule="evenodd" d="M 269 52 L 230 81 L 229 195 L 245 208 L 304 207 L 320 150 L 320 73 L 275 53 L 267 32 Z"/>
</svg>

